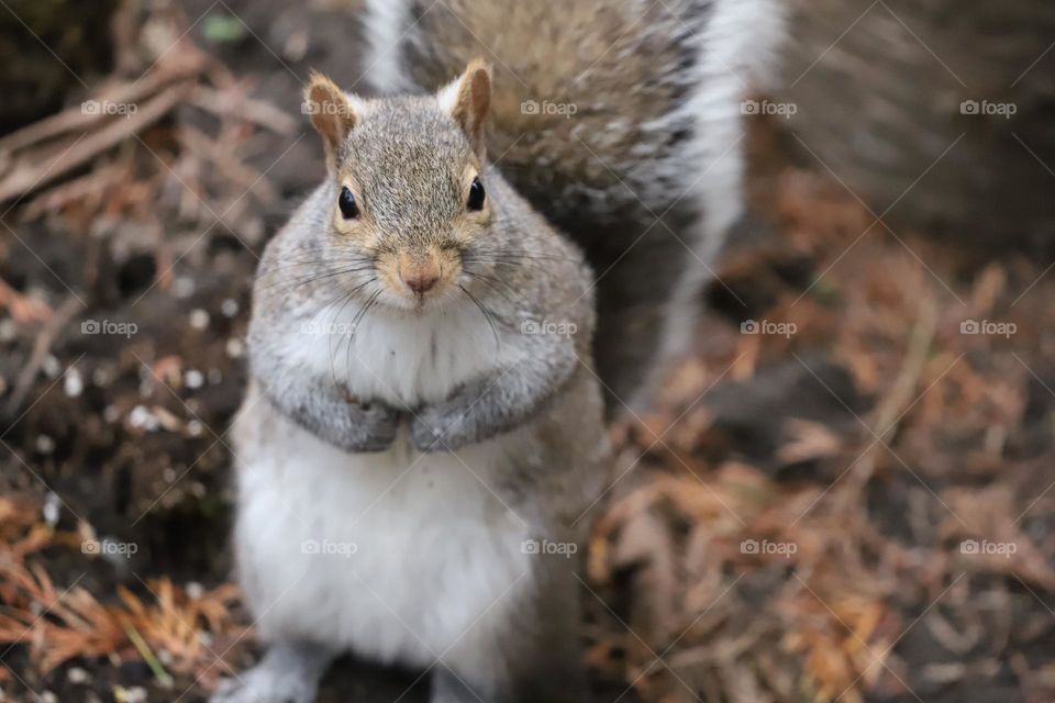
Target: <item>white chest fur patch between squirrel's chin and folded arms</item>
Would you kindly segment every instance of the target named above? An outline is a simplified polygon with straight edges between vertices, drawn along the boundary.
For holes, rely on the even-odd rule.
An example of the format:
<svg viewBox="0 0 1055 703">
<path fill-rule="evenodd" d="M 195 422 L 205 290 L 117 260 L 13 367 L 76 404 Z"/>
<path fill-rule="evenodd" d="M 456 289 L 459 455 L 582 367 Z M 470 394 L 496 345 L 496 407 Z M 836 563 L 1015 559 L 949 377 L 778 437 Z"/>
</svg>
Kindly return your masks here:
<svg viewBox="0 0 1055 703">
<path fill-rule="evenodd" d="M 458 384 L 503 361 L 500 333 L 471 306 L 412 315 L 326 308 L 291 335 L 288 355 L 359 398 L 418 405 L 445 399 Z"/>
</svg>

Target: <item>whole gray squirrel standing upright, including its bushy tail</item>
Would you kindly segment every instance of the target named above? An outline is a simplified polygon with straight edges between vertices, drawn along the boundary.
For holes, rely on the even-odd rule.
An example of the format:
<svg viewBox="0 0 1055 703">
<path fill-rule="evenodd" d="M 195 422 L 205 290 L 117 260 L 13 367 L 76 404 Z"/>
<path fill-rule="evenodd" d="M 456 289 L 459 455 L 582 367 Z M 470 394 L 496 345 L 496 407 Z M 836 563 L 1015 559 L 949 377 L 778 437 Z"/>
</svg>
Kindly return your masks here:
<svg viewBox="0 0 1055 703">
<path fill-rule="evenodd" d="M 254 287 L 234 542 L 268 648 L 214 702 L 308 703 L 345 651 L 434 703 L 587 699 L 606 395 L 687 338 L 770 9 L 367 4 L 384 94 L 311 79 L 326 178 Z"/>
</svg>

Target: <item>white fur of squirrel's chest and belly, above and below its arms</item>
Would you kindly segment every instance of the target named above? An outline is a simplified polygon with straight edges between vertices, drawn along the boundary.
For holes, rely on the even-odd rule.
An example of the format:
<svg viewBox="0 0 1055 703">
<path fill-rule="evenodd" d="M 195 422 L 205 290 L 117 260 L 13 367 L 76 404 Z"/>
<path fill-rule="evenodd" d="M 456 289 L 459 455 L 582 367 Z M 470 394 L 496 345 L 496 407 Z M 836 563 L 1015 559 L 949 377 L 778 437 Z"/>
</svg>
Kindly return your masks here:
<svg viewBox="0 0 1055 703">
<path fill-rule="evenodd" d="M 288 335 L 288 362 L 360 398 L 414 408 L 510 361 L 510 345 L 476 309 L 358 321 L 356 312 L 309 319 Z M 265 637 L 430 666 L 508 622 L 531 565 L 528 525 L 487 484 L 509 461 L 501 443 L 422 455 L 404 435 L 388 451 L 346 454 L 255 390 L 235 438 L 241 581 Z"/>
</svg>

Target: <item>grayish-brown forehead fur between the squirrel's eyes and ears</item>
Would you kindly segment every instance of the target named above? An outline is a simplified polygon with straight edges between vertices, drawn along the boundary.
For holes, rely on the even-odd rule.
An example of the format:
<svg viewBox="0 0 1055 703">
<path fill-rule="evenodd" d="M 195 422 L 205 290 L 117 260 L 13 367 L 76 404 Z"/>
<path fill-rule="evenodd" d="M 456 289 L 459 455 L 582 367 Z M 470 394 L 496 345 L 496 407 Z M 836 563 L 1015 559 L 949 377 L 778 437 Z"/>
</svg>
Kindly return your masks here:
<svg viewBox="0 0 1055 703">
<path fill-rule="evenodd" d="M 348 135 L 340 175 L 358 183 L 374 224 L 434 236 L 464 211 L 462 175 L 476 163 L 468 141 L 434 98 L 371 103 Z"/>
</svg>

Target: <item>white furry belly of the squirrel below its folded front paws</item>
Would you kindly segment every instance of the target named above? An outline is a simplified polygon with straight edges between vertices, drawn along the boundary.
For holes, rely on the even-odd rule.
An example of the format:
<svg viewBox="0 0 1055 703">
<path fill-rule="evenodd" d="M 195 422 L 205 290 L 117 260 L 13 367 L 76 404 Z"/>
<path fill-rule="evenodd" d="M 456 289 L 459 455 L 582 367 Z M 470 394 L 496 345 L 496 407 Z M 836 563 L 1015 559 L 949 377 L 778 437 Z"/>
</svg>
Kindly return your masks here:
<svg viewBox="0 0 1055 703">
<path fill-rule="evenodd" d="M 236 549 L 265 638 L 386 662 L 451 661 L 518 607 L 523 524 L 484 481 L 499 448 L 344 454 L 251 393 L 237 421 Z M 266 435 L 266 436 L 264 436 Z"/>
</svg>

